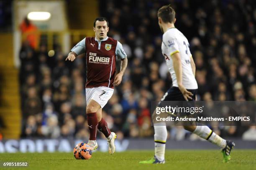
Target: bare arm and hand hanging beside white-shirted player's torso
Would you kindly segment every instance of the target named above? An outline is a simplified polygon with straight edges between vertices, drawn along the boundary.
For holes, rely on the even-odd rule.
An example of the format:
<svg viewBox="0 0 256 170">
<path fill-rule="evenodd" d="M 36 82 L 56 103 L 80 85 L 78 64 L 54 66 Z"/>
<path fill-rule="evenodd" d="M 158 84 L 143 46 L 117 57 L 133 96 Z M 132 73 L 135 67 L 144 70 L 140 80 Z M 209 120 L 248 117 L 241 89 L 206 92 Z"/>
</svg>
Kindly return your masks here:
<svg viewBox="0 0 256 170">
<path fill-rule="evenodd" d="M 174 53 L 173 55 L 171 55 L 171 57 L 172 57 L 174 72 L 176 74 L 179 90 L 182 92 L 185 100 L 188 101 L 188 98 L 192 99 L 192 97 L 190 96 L 192 96 L 193 94 L 192 92 L 187 91 L 187 89 L 182 85 L 182 63 L 180 60 L 179 52 Z"/>
</svg>

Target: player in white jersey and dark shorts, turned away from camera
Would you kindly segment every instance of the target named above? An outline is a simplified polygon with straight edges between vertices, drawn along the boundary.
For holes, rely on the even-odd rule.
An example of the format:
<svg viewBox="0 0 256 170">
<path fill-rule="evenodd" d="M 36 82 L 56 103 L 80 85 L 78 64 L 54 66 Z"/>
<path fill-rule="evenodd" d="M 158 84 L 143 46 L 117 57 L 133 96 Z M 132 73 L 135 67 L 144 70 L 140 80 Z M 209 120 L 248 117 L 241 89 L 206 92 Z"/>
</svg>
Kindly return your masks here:
<svg viewBox="0 0 256 170">
<path fill-rule="evenodd" d="M 189 50 L 187 38 L 174 27 L 176 21 L 174 9 L 170 5 L 161 7 L 158 11 L 158 21 L 163 32 L 161 50 L 173 83 L 173 86 L 166 92 L 161 101 L 195 101 L 197 93 L 195 63 Z M 153 117 L 155 114 L 154 112 Z M 230 160 L 230 151 L 235 146 L 233 142 L 221 138 L 207 126 L 188 125 L 184 126 L 184 129 L 218 145 L 222 150 L 224 162 Z M 165 163 L 166 125 L 163 125 L 163 122 L 154 123 L 154 130 L 154 158 L 140 163 Z"/>
</svg>

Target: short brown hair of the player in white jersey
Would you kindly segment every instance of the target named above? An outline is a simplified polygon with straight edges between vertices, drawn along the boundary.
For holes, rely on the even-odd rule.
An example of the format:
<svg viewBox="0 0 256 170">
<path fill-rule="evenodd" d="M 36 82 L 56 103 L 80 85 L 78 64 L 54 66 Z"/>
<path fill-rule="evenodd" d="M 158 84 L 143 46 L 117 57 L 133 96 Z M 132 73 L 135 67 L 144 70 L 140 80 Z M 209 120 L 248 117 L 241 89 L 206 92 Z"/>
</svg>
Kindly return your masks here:
<svg viewBox="0 0 256 170">
<path fill-rule="evenodd" d="M 175 11 L 171 5 L 164 5 L 158 10 L 157 16 L 160 17 L 164 23 L 173 23 Z"/>
</svg>

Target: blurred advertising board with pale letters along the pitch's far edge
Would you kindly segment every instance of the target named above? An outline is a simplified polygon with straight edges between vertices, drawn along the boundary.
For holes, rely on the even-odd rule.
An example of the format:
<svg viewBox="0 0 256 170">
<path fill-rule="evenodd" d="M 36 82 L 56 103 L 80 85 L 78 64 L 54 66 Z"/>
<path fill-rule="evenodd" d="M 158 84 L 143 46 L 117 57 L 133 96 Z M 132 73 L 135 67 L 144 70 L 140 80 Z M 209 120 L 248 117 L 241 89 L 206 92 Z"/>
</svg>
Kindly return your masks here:
<svg viewBox="0 0 256 170">
<path fill-rule="evenodd" d="M 256 149 L 255 141 L 233 140 L 236 143 L 236 149 Z M 16 152 L 72 152 L 74 145 L 82 142 L 82 140 L 74 139 L 21 139 L 21 140 L 5 140 L 0 141 L 0 153 L 16 153 Z M 97 151 L 107 152 L 108 143 L 106 140 L 97 140 L 99 148 Z M 123 152 L 125 150 L 152 150 L 154 149 L 153 139 L 125 139 L 115 141 L 116 151 Z M 169 140 L 166 143 L 167 149 L 218 149 L 212 143 L 207 141 L 174 141 Z"/>
</svg>

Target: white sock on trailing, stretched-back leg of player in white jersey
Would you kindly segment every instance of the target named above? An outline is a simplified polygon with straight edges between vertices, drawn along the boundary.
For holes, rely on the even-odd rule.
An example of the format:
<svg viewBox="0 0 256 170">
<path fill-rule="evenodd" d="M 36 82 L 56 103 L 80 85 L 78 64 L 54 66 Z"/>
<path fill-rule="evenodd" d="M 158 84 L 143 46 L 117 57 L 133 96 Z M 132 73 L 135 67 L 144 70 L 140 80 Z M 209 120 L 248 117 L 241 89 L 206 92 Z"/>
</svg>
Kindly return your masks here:
<svg viewBox="0 0 256 170">
<path fill-rule="evenodd" d="M 208 126 L 197 126 L 193 133 L 218 145 L 221 149 L 226 147 L 226 140 L 214 133 Z"/>
</svg>

